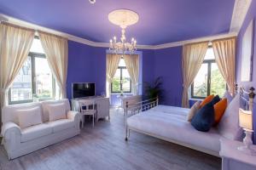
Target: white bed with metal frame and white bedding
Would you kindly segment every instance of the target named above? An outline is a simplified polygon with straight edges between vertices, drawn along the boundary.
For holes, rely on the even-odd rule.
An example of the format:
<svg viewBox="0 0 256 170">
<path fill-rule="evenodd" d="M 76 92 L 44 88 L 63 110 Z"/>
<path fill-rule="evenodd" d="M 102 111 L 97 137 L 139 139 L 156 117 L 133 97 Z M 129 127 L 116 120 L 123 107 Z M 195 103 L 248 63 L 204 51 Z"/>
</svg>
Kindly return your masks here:
<svg viewBox="0 0 256 170">
<path fill-rule="evenodd" d="M 239 127 L 238 119 L 241 99 L 246 101 L 245 103 L 249 105 L 251 111 L 253 108 L 253 90 L 248 93 L 244 88 L 241 88 L 239 94 L 231 99 L 218 127 L 212 127 L 209 132 L 200 132 L 192 127 L 187 121 L 189 109 L 158 105 L 158 99 L 143 101 L 140 103 L 137 114 L 129 115 L 127 109 L 125 111 L 125 140 L 128 140 L 130 131 L 136 131 L 194 150 L 200 150 L 213 156 L 219 156 L 219 139 L 241 140 L 242 138 L 243 131 Z M 247 98 L 244 98 L 244 95 Z M 130 108 L 130 106 L 126 103 L 126 108 Z M 138 108 L 138 105 L 134 106 Z"/>
</svg>

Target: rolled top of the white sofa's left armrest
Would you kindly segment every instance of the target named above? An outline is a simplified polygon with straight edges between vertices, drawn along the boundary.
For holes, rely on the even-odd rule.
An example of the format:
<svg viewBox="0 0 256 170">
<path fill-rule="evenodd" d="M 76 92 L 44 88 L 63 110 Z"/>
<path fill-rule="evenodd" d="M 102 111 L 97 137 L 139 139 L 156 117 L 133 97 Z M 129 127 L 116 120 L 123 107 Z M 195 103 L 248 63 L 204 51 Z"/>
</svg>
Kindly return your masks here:
<svg viewBox="0 0 256 170">
<path fill-rule="evenodd" d="M 2 136 L 4 139 L 9 139 L 11 133 L 21 134 L 20 127 L 15 122 L 5 122 L 2 127 Z"/>
</svg>

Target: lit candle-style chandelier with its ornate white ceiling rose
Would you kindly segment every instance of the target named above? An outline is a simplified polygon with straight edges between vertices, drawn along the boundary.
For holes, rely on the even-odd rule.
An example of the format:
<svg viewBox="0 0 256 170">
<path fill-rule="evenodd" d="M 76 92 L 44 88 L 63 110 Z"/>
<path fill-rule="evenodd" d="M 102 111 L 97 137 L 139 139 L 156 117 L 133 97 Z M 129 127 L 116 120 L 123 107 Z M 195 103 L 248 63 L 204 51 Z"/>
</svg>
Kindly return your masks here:
<svg viewBox="0 0 256 170">
<path fill-rule="evenodd" d="M 116 37 L 110 39 L 109 50 L 114 54 L 133 54 L 137 48 L 137 41 L 135 38 L 131 38 L 131 42 L 128 42 L 125 37 L 125 29 L 127 26 L 131 26 L 137 23 L 139 17 L 134 11 L 128 9 L 118 9 L 112 11 L 108 14 L 108 20 L 114 25 L 120 26 L 122 29 L 122 35 L 120 37 L 120 42 L 117 41 Z"/>
</svg>

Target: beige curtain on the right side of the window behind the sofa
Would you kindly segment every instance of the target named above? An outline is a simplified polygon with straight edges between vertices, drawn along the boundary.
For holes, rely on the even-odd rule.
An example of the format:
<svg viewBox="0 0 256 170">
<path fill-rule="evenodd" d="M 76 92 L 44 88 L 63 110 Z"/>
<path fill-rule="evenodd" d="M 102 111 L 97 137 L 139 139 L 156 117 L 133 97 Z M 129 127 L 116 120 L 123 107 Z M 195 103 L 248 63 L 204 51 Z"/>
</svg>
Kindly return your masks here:
<svg viewBox="0 0 256 170">
<path fill-rule="evenodd" d="M 67 39 L 42 31 L 38 33 L 50 70 L 60 88 L 60 96 L 58 98 L 67 98 Z"/>
</svg>

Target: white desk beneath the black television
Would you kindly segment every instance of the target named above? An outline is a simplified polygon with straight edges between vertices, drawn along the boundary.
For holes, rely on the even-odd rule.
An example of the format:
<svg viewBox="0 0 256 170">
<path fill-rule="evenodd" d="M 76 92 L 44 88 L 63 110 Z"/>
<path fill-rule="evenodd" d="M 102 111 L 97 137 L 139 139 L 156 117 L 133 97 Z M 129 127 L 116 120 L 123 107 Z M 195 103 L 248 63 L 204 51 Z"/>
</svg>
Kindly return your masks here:
<svg viewBox="0 0 256 170">
<path fill-rule="evenodd" d="M 80 105 L 79 102 L 83 102 L 83 100 L 87 99 L 94 99 L 96 103 L 96 120 L 98 121 L 101 118 L 106 118 L 108 116 L 108 119 L 110 119 L 109 116 L 109 98 L 104 98 L 102 96 L 96 96 L 96 97 L 89 97 L 89 98 L 82 98 L 82 99 L 72 99 L 71 105 L 73 111 L 79 111 L 80 112 Z"/>
</svg>

